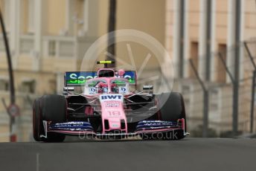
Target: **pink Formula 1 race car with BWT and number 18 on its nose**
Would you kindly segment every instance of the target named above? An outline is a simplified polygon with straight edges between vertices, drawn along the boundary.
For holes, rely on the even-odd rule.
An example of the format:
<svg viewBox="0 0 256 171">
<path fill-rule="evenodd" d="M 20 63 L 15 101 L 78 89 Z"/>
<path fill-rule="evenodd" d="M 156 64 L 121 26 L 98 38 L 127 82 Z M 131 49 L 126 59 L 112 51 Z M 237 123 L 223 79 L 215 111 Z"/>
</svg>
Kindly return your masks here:
<svg viewBox="0 0 256 171">
<path fill-rule="evenodd" d="M 153 86 L 136 86 L 135 71 L 107 68 L 65 72 L 63 95 L 44 95 L 33 103 L 33 138 L 61 142 L 65 135 L 120 139 L 182 139 L 187 135 L 185 106 L 176 92 L 153 94 Z M 74 87 L 83 88 L 82 93 Z"/>
</svg>

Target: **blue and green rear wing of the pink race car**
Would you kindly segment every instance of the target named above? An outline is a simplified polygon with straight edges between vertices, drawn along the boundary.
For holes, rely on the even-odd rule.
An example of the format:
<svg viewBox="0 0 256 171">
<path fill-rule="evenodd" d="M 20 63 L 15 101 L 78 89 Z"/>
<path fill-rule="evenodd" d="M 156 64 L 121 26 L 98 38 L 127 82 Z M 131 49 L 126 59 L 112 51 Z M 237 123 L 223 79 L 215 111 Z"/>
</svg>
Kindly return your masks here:
<svg viewBox="0 0 256 171">
<path fill-rule="evenodd" d="M 97 71 L 67 71 L 64 74 L 64 86 L 84 86 L 87 80 L 96 77 Z M 135 71 L 125 71 L 124 78 L 129 80 L 129 84 L 136 85 L 136 77 Z"/>
</svg>

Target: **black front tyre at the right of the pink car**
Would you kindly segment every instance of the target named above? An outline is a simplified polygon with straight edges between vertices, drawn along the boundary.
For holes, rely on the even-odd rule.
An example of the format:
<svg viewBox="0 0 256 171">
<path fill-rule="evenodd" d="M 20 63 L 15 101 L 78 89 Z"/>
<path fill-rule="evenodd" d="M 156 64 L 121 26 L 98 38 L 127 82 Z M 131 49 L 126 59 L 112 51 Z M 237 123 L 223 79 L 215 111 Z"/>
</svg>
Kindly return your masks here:
<svg viewBox="0 0 256 171">
<path fill-rule="evenodd" d="M 179 119 L 185 119 L 185 131 L 186 131 L 186 113 L 185 105 L 182 94 L 177 92 L 162 93 L 159 96 L 159 112 L 160 119 L 164 121 L 177 121 Z M 185 138 L 183 131 L 172 132 L 174 135 L 164 137 L 164 139 L 182 139 Z"/>
</svg>

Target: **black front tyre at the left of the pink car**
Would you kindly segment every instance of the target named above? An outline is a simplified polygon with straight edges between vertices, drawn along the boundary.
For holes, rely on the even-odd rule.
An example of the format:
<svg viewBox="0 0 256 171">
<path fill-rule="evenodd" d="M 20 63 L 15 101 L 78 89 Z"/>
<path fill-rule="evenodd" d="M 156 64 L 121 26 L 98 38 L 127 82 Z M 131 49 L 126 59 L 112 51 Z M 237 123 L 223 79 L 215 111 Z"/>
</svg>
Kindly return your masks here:
<svg viewBox="0 0 256 171">
<path fill-rule="evenodd" d="M 60 95 L 45 95 L 34 101 L 33 138 L 35 141 L 62 142 L 65 140 L 65 135 L 57 132 L 48 132 L 47 138 L 40 138 L 40 135 L 45 135 L 42 120 L 63 123 L 66 121 L 66 109 L 65 97 Z"/>
</svg>

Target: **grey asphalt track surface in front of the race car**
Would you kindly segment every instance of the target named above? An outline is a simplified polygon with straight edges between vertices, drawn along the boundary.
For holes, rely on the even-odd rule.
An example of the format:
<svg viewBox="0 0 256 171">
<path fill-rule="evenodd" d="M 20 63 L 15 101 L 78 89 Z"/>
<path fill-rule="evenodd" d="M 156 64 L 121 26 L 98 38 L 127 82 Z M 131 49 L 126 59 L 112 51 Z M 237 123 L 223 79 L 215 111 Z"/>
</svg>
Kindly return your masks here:
<svg viewBox="0 0 256 171">
<path fill-rule="evenodd" d="M 0 170 L 256 170 L 256 139 L 0 143 Z"/>
</svg>

